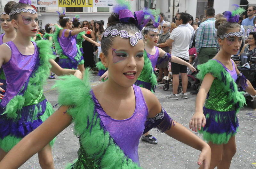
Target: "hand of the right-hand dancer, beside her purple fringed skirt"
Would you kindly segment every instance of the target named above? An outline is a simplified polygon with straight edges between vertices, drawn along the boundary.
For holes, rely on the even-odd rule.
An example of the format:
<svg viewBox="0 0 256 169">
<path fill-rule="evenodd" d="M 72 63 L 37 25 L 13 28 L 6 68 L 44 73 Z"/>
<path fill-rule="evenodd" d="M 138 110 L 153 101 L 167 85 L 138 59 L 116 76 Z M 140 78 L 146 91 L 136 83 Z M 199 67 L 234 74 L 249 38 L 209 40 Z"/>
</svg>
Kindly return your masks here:
<svg viewBox="0 0 256 169">
<path fill-rule="evenodd" d="M 201 127 L 202 126 L 204 127 L 205 123 L 206 123 L 206 119 L 203 111 L 196 112 L 194 116 L 191 118 L 191 120 L 189 121 L 189 128 L 197 132 L 197 128 L 198 130 L 201 130 Z"/>
</svg>

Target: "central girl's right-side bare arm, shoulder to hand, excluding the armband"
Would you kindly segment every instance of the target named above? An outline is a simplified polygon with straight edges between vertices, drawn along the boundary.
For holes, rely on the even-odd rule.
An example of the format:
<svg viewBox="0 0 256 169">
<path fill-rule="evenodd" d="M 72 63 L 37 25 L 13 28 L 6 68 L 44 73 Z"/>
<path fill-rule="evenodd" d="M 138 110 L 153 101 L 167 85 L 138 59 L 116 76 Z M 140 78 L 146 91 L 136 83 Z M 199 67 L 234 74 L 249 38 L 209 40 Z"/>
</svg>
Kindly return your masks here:
<svg viewBox="0 0 256 169">
<path fill-rule="evenodd" d="M 160 102 L 158 101 L 156 96 L 149 90 L 144 88 L 141 88 L 141 90 L 148 105 L 148 118 L 155 117 L 156 114 L 158 114 L 162 110 Z M 175 125 L 172 125 L 172 127 L 169 130 L 166 130 L 164 133 L 184 144 L 189 145 L 190 147 L 201 151 L 197 164 L 204 164 L 204 168 L 208 169 L 211 162 L 210 146 L 180 123 L 174 121 L 174 124 Z"/>
</svg>

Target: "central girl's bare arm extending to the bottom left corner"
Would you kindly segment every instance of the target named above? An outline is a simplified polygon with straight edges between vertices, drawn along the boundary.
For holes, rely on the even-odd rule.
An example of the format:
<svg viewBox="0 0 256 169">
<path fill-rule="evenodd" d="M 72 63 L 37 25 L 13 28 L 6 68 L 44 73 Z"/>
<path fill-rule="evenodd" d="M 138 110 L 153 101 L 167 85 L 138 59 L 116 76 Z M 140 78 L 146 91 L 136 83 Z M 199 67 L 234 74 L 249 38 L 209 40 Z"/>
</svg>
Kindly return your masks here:
<svg viewBox="0 0 256 169">
<path fill-rule="evenodd" d="M 24 137 L 0 162 L 1 169 L 16 169 L 30 157 L 42 150 L 54 137 L 67 128 L 72 117 L 66 112 L 67 106 L 61 106 L 44 123 Z"/>
</svg>

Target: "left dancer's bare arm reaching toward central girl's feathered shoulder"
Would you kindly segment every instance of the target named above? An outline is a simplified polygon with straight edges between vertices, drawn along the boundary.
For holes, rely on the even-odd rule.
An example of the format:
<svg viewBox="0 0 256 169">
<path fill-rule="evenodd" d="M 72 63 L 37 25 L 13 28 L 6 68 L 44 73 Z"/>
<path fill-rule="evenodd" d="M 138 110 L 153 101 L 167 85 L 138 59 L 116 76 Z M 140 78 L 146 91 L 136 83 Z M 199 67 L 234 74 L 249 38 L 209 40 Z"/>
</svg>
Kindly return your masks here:
<svg viewBox="0 0 256 169">
<path fill-rule="evenodd" d="M 68 75 L 68 74 L 73 74 L 79 79 L 82 79 L 82 73 L 79 70 L 73 70 L 73 69 L 63 69 L 58 65 L 53 59 L 50 59 L 50 63 L 52 65 L 51 71 L 57 76 L 62 76 L 62 75 Z"/>
</svg>

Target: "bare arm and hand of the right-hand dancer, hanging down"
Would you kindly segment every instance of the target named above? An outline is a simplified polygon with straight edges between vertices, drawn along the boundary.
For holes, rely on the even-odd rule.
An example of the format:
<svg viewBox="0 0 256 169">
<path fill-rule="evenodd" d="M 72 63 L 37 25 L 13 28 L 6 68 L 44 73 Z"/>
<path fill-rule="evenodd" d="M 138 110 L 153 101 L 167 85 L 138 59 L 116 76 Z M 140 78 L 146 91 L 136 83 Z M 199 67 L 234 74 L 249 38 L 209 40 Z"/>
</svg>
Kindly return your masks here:
<svg viewBox="0 0 256 169">
<path fill-rule="evenodd" d="M 206 119 L 203 113 L 203 107 L 204 107 L 204 102 L 205 102 L 207 93 L 209 92 L 212 86 L 213 80 L 214 80 L 214 77 L 211 74 L 206 74 L 204 76 L 203 82 L 196 96 L 195 114 L 189 121 L 189 128 L 192 129 L 193 131 L 197 132 L 197 128 L 198 130 L 201 130 L 201 127 L 202 126 L 204 127 L 206 123 Z"/>
</svg>

